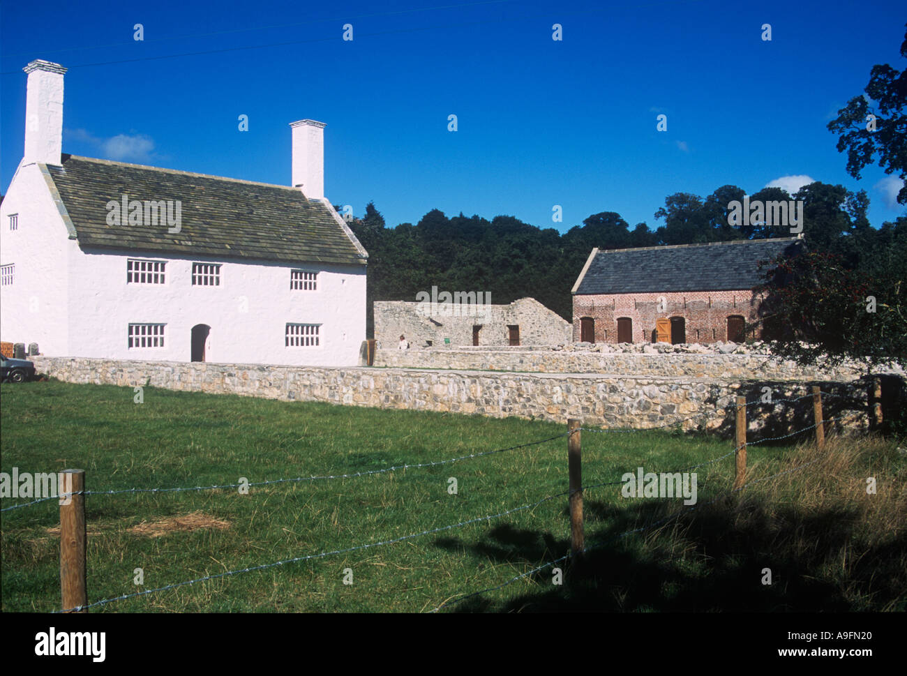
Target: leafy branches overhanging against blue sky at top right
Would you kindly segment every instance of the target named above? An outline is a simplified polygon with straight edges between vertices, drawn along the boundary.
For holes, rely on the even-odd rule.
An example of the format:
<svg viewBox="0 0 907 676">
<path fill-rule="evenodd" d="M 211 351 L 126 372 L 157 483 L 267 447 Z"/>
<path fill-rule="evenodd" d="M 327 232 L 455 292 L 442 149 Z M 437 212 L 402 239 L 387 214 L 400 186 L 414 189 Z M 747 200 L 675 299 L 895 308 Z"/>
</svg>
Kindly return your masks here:
<svg viewBox="0 0 907 676">
<path fill-rule="evenodd" d="M 907 31 L 901 55 L 907 59 Z M 853 178 L 859 179 L 860 171 L 875 163 L 877 152 L 885 173 L 898 172 L 904 181 L 898 203 L 907 204 L 907 69 L 899 73 L 888 64 L 873 65 L 863 91 L 864 96 L 854 97 L 838 111 L 828 129 L 841 134 L 838 152 L 847 151 L 847 171 Z M 875 107 L 870 107 L 870 101 L 875 102 Z"/>
</svg>

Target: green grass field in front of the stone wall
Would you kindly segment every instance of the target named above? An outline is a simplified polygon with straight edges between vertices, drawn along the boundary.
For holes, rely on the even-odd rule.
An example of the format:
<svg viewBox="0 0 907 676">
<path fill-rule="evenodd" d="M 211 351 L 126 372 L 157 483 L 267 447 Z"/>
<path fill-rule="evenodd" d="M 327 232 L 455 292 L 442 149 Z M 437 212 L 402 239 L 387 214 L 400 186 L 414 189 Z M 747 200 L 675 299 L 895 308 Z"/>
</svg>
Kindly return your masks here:
<svg viewBox="0 0 907 676">
<path fill-rule="evenodd" d="M 11 472 L 81 467 L 87 490 L 234 484 L 426 463 L 561 435 L 565 425 L 144 388 L 0 387 Z M 805 442 L 808 439 L 805 438 Z M 582 435 L 583 484 L 670 471 L 732 449 L 668 431 Z M 895 442 L 751 446 L 701 467 L 698 507 L 585 494 L 586 542 L 604 542 L 562 585 L 551 568 L 444 612 L 907 609 L 907 456 Z M 878 485 L 867 495 L 866 477 Z M 448 479 L 457 494 L 448 493 Z M 449 465 L 354 478 L 159 494 L 86 496 L 89 603 L 498 514 L 565 492 L 567 439 Z M 716 498 L 718 498 L 716 500 Z M 711 504 L 709 501 L 713 501 Z M 3 501 L 3 506 L 27 502 Z M 625 531 L 682 510 L 639 533 Z M 506 583 L 570 550 L 567 498 L 395 544 L 219 577 L 92 612 L 424 612 Z M 55 500 L 2 514 L 2 610 L 60 608 Z M 141 568 L 143 586 L 133 583 Z M 773 583 L 762 583 L 770 568 Z M 345 584 L 345 570 L 352 584 Z M 346 575 L 347 581 L 349 579 Z"/>
</svg>

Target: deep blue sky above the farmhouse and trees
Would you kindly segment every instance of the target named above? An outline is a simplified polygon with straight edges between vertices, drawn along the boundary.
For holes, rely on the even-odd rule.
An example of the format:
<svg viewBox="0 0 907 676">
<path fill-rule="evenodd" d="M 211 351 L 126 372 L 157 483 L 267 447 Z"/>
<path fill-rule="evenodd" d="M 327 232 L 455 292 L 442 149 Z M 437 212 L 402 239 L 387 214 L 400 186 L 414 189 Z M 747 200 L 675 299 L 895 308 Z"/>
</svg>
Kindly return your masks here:
<svg viewBox="0 0 907 676">
<path fill-rule="evenodd" d="M 288 123 L 311 118 L 327 197 L 375 201 L 389 226 L 440 209 L 563 231 L 618 211 L 654 229 L 668 194 L 807 176 L 866 190 L 878 227 L 900 183 L 851 178 L 825 125 L 873 64 L 907 67 L 905 21 L 846 0 L 4 2 L 0 187 L 22 157 L 22 68 L 43 58 L 70 69 L 63 152 L 289 184 Z"/>
</svg>

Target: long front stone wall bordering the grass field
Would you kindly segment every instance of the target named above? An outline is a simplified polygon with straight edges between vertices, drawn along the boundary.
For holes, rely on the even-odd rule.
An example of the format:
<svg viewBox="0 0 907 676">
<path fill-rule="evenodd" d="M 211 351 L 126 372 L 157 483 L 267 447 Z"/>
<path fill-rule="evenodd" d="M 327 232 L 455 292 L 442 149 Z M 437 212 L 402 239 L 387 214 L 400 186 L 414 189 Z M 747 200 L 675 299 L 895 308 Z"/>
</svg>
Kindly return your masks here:
<svg viewBox="0 0 907 676">
<path fill-rule="evenodd" d="M 736 395 L 756 401 L 772 387 L 776 399 L 801 397 L 804 383 L 740 382 L 682 377 L 615 377 L 600 374 L 519 374 L 370 367 L 290 367 L 200 362 L 113 361 L 36 357 L 37 371 L 71 383 L 174 390 L 248 397 L 322 401 L 378 408 L 408 408 L 483 416 L 540 418 L 587 426 L 646 428 L 681 423 L 731 434 Z M 830 397 L 825 416 L 848 416 L 866 425 L 865 390 L 855 384 L 820 384 Z M 27 387 L 27 386 L 24 386 Z M 145 393 L 149 397 L 149 393 Z M 731 407 L 727 410 L 726 407 Z M 750 428 L 777 436 L 813 423 L 812 401 L 758 404 Z M 696 420 L 688 420 L 697 416 Z M 686 421 L 686 422 L 683 422 Z"/>
</svg>

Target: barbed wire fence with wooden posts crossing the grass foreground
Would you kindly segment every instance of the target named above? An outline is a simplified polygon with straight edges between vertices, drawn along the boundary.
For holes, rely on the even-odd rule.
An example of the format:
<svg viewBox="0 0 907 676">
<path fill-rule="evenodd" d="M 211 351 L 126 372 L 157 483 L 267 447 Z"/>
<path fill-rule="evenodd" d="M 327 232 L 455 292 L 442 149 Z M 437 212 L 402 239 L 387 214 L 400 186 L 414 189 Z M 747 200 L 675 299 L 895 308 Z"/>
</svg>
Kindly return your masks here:
<svg viewBox="0 0 907 676">
<path fill-rule="evenodd" d="M 579 421 L 574 421 L 571 419 L 571 424 L 574 424 L 573 427 L 568 432 L 565 432 L 563 434 L 548 436 L 548 437 L 545 437 L 545 438 L 542 438 L 542 439 L 539 439 L 536 441 L 532 441 L 532 442 L 527 442 L 524 444 L 507 446 L 507 447 L 503 447 L 503 448 L 493 449 L 491 451 L 483 451 L 483 452 L 472 453 L 472 454 L 463 455 L 463 456 L 455 456 L 455 457 L 447 458 L 444 460 L 433 461 L 433 462 L 414 463 L 414 464 L 406 463 L 406 464 L 402 464 L 402 465 L 389 465 L 389 466 L 386 466 L 386 467 L 383 467 L 380 469 L 365 470 L 365 471 L 360 471 L 360 472 L 296 476 L 296 477 L 290 477 L 290 478 L 279 478 L 279 479 L 272 479 L 272 480 L 268 480 L 268 481 L 252 482 L 252 483 L 247 482 L 247 483 L 219 484 L 219 485 L 175 486 L 175 487 L 164 487 L 164 488 L 161 488 L 161 487 L 128 488 L 128 489 L 94 490 L 94 491 L 86 491 L 84 489 L 70 490 L 65 493 L 61 492 L 60 495 L 39 498 L 39 499 L 35 499 L 35 500 L 32 500 L 27 503 L 4 507 L 3 509 L 0 509 L 0 512 L 8 512 L 8 511 L 21 509 L 21 508 L 32 506 L 32 505 L 38 505 L 38 504 L 44 503 L 49 500 L 59 500 L 60 504 L 61 504 L 61 548 L 62 548 L 61 549 L 61 559 L 63 560 L 64 544 L 69 541 L 72 541 L 74 543 L 78 539 L 78 535 L 79 535 L 78 533 L 74 533 L 74 534 L 70 534 L 70 536 L 67 537 L 66 534 L 63 533 L 64 522 L 66 521 L 66 519 L 63 518 L 63 509 L 73 507 L 73 505 L 71 505 L 71 504 L 75 503 L 75 505 L 74 505 L 75 509 L 81 510 L 81 513 L 82 513 L 81 514 L 82 515 L 81 537 L 82 537 L 82 539 L 84 539 L 84 533 L 85 533 L 84 498 L 88 495 L 110 496 L 110 495 L 125 495 L 125 494 L 174 494 L 174 493 L 182 493 L 182 492 L 196 492 L 196 491 L 233 489 L 233 488 L 253 487 L 253 486 L 293 484 L 293 483 L 309 482 L 309 481 L 330 481 L 330 480 L 336 480 L 336 479 L 351 479 L 351 478 L 370 476 L 370 475 L 382 475 L 382 474 L 395 472 L 395 471 L 405 471 L 408 469 L 421 469 L 421 468 L 434 467 L 434 466 L 439 466 L 439 465 L 449 465 L 449 464 L 453 464 L 453 463 L 457 463 L 457 462 L 472 460 L 475 458 L 480 458 L 480 457 L 485 457 L 485 456 L 494 456 L 494 455 L 498 455 L 498 454 L 502 454 L 502 453 L 506 453 L 506 452 L 510 452 L 510 451 L 516 451 L 516 450 L 521 450 L 521 449 L 525 449 L 525 448 L 530 448 L 533 446 L 541 446 L 543 444 L 547 444 L 551 441 L 556 441 L 556 440 L 564 438 L 564 437 L 571 437 L 573 435 L 579 434 L 580 432 L 589 432 L 589 433 L 596 434 L 596 435 L 601 435 L 601 434 L 607 435 L 607 434 L 640 433 L 640 432 L 647 432 L 647 431 L 652 431 L 652 430 L 663 430 L 663 429 L 668 429 L 668 428 L 684 429 L 684 426 L 687 425 L 688 423 L 695 422 L 695 424 L 698 426 L 701 424 L 701 422 L 704 419 L 716 419 L 716 417 L 720 417 L 720 416 L 717 416 L 717 414 L 720 414 L 721 412 L 724 412 L 725 416 L 727 416 L 728 411 L 730 411 L 732 409 L 736 410 L 736 413 L 738 416 L 737 441 L 735 443 L 735 448 L 733 450 L 728 451 L 725 454 L 714 457 L 705 462 L 697 463 L 695 465 L 689 465 L 687 467 L 682 467 L 682 468 L 679 468 L 677 470 L 673 470 L 673 471 L 667 473 L 670 475 L 679 475 L 681 473 L 699 469 L 701 467 L 714 465 L 717 462 L 720 462 L 721 460 L 728 458 L 729 456 L 736 456 L 736 458 L 737 458 L 736 482 L 735 482 L 735 487 L 729 493 L 720 495 L 717 498 L 708 501 L 707 503 L 697 503 L 696 505 L 688 506 L 685 509 L 678 510 L 673 514 L 669 514 L 668 516 L 658 519 L 657 521 L 651 522 L 649 524 L 645 524 L 638 528 L 630 529 L 621 534 L 612 536 L 606 540 L 592 543 L 589 545 L 584 544 L 580 549 L 576 549 L 575 551 L 571 550 L 571 552 L 569 554 L 565 554 L 552 561 L 549 561 L 547 563 L 543 563 L 539 566 L 536 566 L 536 567 L 532 568 L 531 570 L 526 571 L 525 573 L 520 573 L 520 574 L 512 577 L 511 579 L 505 581 L 504 583 L 486 587 L 477 592 L 466 593 L 466 594 L 463 594 L 454 599 L 447 600 L 444 603 L 441 603 L 440 605 L 434 607 L 434 609 L 431 611 L 431 612 L 439 612 L 444 608 L 451 607 L 451 606 L 457 605 L 459 603 L 463 603 L 467 599 L 474 598 L 481 594 L 498 591 L 498 590 L 502 589 L 503 587 L 506 587 L 512 583 L 522 580 L 523 578 L 532 577 L 532 575 L 535 575 L 537 573 L 540 573 L 543 570 L 556 566 L 559 563 L 568 562 L 571 558 L 575 558 L 578 555 L 584 554 L 586 552 L 599 550 L 599 549 L 607 546 L 610 543 L 613 543 L 623 537 L 627 537 L 630 534 L 636 534 L 636 533 L 648 531 L 652 528 L 657 527 L 660 524 L 667 523 L 671 519 L 677 518 L 680 514 L 687 514 L 689 511 L 695 510 L 701 506 L 714 504 L 715 502 L 717 502 L 721 499 L 727 498 L 730 495 L 735 495 L 737 492 L 743 490 L 744 488 L 746 488 L 749 485 L 755 485 L 758 483 L 769 481 L 776 477 L 799 471 L 800 469 L 803 469 L 805 466 L 813 465 L 815 462 L 818 462 L 821 459 L 821 457 L 817 458 L 816 460 L 811 461 L 809 463 L 797 465 L 794 468 L 791 468 L 791 469 L 788 469 L 788 470 L 785 470 L 782 472 L 778 472 L 775 475 L 767 476 L 762 479 L 757 479 L 755 481 L 744 483 L 742 481 L 742 475 L 741 475 L 740 456 L 741 456 L 741 452 L 743 452 L 742 472 L 745 474 L 746 473 L 746 447 L 747 446 L 756 446 L 758 444 L 764 444 L 767 442 L 782 441 L 787 438 L 805 434 L 806 432 L 809 432 L 810 430 L 816 430 L 817 446 L 821 447 L 822 440 L 824 439 L 824 427 L 829 423 L 843 421 L 844 419 L 847 419 L 850 417 L 850 416 L 837 416 L 837 417 L 824 418 L 824 416 L 822 415 L 822 404 L 821 404 L 822 396 L 824 396 L 824 397 L 842 397 L 842 398 L 845 397 L 844 395 L 824 392 L 824 391 L 820 390 L 818 387 L 813 387 L 812 394 L 807 394 L 802 397 L 795 397 L 795 398 L 775 399 L 775 400 L 769 400 L 769 401 L 757 399 L 755 401 L 746 402 L 744 397 L 737 397 L 736 405 L 733 405 L 733 406 L 716 407 L 713 410 L 704 411 L 695 416 L 688 416 L 687 418 L 683 418 L 680 420 L 674 420 L 674 421 L 668 422 L 668 423 L 666 423 L 664 425 L 660 425 L 660 426 L 650 426 L 650 427 L 645 427 L 645 428 L 633 428 L 633 429 L 627 429 L 627 428 L 604 428 L 604 429 L 602 429 L 602 428 L 597 428 L 597 427 L 583 427 L 583 426 L 580 426 Z M 746 410 L 750 407 L 754 407 L 754 406 L 758 406 L 758 405 L 774 407 L 778 404 L 796 404 L 797 402 L 799 402 L 803 399 L 807 399 L 807 398 L 812 398 L 814 400 L 815 422 L 813 425 L 805 426 L 803 428 L 797 429 L 794 432 L 791 432 L 791 433 L 785 434 L 785 435 L 767 436 L 767 437 L 757 439 L 755 441 L 747 441 L 746 440 L 746 422 L 744 422 L 742 436 L 741 436 L 741 428 L 739 426 L 741 412 L 743 415 L 743 419 L 745 421 L 746 420 Z M 822 434 L 820 434 L 820 430 L 823 431 Z M 73 470 L 67 470 L 67 472 L 72 472 L 72 471 Z M 63 473 L 61 473 L 61 475 L 62 474 Z M 662 473 L 662 474 L 665 474 L 665 473 Z M 107 605 L 109 603 L 124 601 L 126 599 L 136 598 L 136 597 L 140 597 L 140 596 L 147 596 L 151 593 L 165 592 L 165 591 L 169 591 L 172 589 L 178 589 L 178 588 L 181 588 L 184 586 L 189 586 L 189 585 L 196 584 L 196 583 L 202 583 L 202 582 L 207 582 L 207 581 L 211 581 L 211 580 L 217 580 L 220 578 L 230 577 L 233 575 L 238 575 L 240 573 L 251 573 L 251 572 L 255 572 L 255 571 L 262 571 L 262 570 L 275 568 L 278 566 L 284 566 L 284 565 L 288 565 L 288 564 L 292 564 L 292 563 L 301 563 L 301 562 L 305 562 L 305 561 L 323 559 L 323 558 L 327 558 L 329 556 L 335 556 L 335 555 L 339 555 L 339 554 L 351 554 L 351 553 L 354 553 L 357 551 L 372 549 L 372 548 L 384 546 L 387 544 L 395 544 L 395 543 L 399 543 L 399 542 L 413 540 L 415 538 L 423 537 L 423 536 L 430 535 L 430 534 L 438 534 L 438 533 L 443 533 L 446 531 L 451 531 L 451 530 L 454 530 L 457 528 L 463 528 L 463 527 L 465 527 L 467 525 L 471 525 L 471 524 L 478 524 L 481 522 L 491 522 L 495 519 L 501 519 L 510 514 L 517 514 L 520 512 L 531 511 L 532 509 L 534 509 L 535 507 L 537 507 L 539 505 L 550 502 L 551 500 L 562 498 L 564 496 L 569 496 L 571 498 L 570 505 L 571 505 L 571 511 L 572 511 L 574 494 L 579 493 L 580 498 L 581 498 L 582 493 L 585 491 L 603 488 L 605 486 L 621 485 L 623 483 L 624 483 L 624 481 L 621 479 L 621 480 L 604 481 L 604 482 L 590 484 L 590 485 L 579 485 L 579 486 L 571 485 L 571 490 L 564 491 L 562 493 L 557 493 L 554 495 L 547 495 L 535 502 L 532 502 L 532 503 L 529 503 L 526 505 L 520 505 L 517 507 L 513 507 L 512 509 L 502 511 L 497 514 L 488 514 L 485 516 L 478 516 L 478 517 L 475 517 L 472 519 L 459 521 L 454 524 L 438 526 L 435 528 L 430 528 L 427 530 L 420 531 L 418 533 L 406 534 L 406 535 L 402 535 L 399 537 L 389 538 L 389 539 L 385 539 L 385 540 L 378 540 L 378 541 L 371 542 L 371 543 L 358 544 L 355 546 L 331 550 L 331 551 L 327 551 L 327 552 L 320 552 L 317 554 L 306 554 L 306 555 L 302 555 L 302 556 L 296 556 L 296 557 L 282 559 L 282 560 L 271 562 L 271 563 L 262 563 L 262 564 L 255 565 L 255 566 L 237 568 L 235 570 L 226 571 L 223 573 L 203 575 L 203 576 L 191 579 L 191 580 L 186 580 L 186 581 L 179 582 L 179 583 L 166 584 L 166 585 L 163 585 L 160 587 L 155 587 L 152 589 L 141 590 L 140 592 L 122 594 L 120 596 L 114 596 L 111 598 L 102 599 L 102 600 L 99 600 L 99 601 L 96 601 L 93 603 L 87 603 L 87 590 L 84 589 L 84 586 L 85 586 L 84 585 L 84 573 L 81 573 L 82 589 L 70 590 L 70 591 L 75 595 L 76 598 L 84 599 L 84 602 L 83 603 L 79 603 L 79 602 L 65 603 L 66 592 L 64 590 L 64 593 L 63 593 L 63 598 L 64 598 L 63 606 L 64 607 L 62 610 L 55 611 L 55 612 L 87 612 L 91 608 L 101 607 L 101 606 Z M 60 485 L 61 486 L 63 485 L 62 481 L 61 481 Z M 75 499 L 73 499 L 73 498 L 75 498 Z M 63 507 L 63 505 L 66 505 L 66 507 Z M 572 521 L 572 515 L 573 514 L 571 514 L 571 521 Z M 581 499 L 580 499 L 580 528 L 581 528 Z M 78 530 L 78 524 L 76 524 L 76 530 Z M 78 547 L 76 547 L 76 549 L 78 549 Z M 83 557 L 82 571 L 84 571 L 84 552 L 85 552 L 85 547 L 84 547 L 84 542 L 82 542 L 82 544 L 81 544 L 81 553 L 82 553 L 82 557 Z M 71 577 L 74 581 L 75 586 L 78 587 L 80 585 L 79 575 L 76 574 L 76 575 L 72 575 Z M 61 573 L 61 585 L 64 586 L 63 572 Z M 71 594 L 71 596 L 72 596 L 72 594 Z"/>
</svg>

